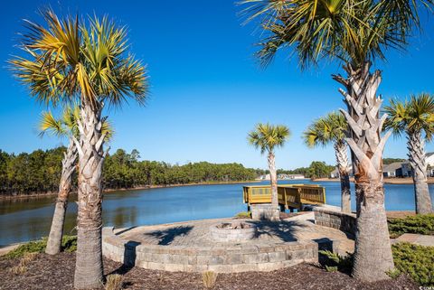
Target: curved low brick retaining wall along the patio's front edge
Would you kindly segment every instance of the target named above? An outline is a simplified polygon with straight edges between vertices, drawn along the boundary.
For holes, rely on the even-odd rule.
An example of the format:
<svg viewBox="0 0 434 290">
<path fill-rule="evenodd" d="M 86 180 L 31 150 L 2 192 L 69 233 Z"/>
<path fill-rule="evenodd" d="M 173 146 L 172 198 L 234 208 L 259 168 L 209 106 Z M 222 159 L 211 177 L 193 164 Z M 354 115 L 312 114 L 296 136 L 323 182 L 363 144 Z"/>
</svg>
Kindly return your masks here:
<svg viewBox="0 0 434 290">
<path fill-rule="evenodd" d="M 184 272 L 211 270 L 219 273 L 272 271 L 318 260 L 318 244 L 311 240 L 228 247 L 141 245 L 121 239 L 114 234 L 113 229 L 102 229 L 104 257 L 147 269 Z"/>
</svg>

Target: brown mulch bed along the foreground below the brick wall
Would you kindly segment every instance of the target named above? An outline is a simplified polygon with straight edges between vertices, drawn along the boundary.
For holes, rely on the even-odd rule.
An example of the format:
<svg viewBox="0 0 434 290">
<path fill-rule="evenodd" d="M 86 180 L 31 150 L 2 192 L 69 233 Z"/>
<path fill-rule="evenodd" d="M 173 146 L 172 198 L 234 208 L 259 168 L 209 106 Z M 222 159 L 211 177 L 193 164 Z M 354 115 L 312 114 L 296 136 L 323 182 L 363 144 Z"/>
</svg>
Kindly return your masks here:
<svg viewBox="0 0 434 290">
<path fill-rule="evenodd" d="M 14 275 L 10 272 L 10 268 L 18 263 L 19 259 L 0 258 L 0 289 L 73 289 L 74 253 L 61 253 L 57 256 L 40 254 L 30 262 L 23 275 Z M 138 267 L 128 269 L 108 259 L 104 260 L 104 267 L 106 275 L 118 273 L 124 276 L 125 289 L 204 289 L 201 274 L 170 273 Z M 329 273 L 320 267 L 301 264 L 273 272 L 220 274 L 213 289 L 416 290 L 419 286 L 411 282 L 407 276 L 377 283 L 361 283 L 343 273 Z"/>
</svg>

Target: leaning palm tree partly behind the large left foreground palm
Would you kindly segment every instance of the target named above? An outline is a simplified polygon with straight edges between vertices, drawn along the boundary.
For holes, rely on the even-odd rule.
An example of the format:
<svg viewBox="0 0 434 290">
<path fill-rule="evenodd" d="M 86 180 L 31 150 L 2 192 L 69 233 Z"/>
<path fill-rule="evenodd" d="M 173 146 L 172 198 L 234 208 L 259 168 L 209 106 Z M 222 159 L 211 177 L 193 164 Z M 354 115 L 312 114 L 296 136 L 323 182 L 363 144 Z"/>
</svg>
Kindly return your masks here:
<svg viewBox="0 0 434 290">
<path fill-rule="evenodd" d="M 66 137 L 69 140 L 68 148 L 63 154 L 61 161 L 61 181 L 57 195 L 54 214 L 52 216 L 52 227 L 47 240 L 45 253 L 55 255 L 61 252 L 61 239 L 63 236 L 63 225 L 66 209 L 68 207 L 68 197 L 72 188 L 72 174 L 75 171 L 75 160 L 77 159 L 77 147 L 72 136 L 79 136 L 78 119 L 80 118 L 80 108 L 78 106 L 66 106 L 61 117 L 55 118 L 52 112 L 42 112 L 40 121 L 41 136 L 48 133 L 60 138 Z M 106 133 L 106 141 L 113 136 L 113 129 L 109 122 L 104 122 L 102 131 Z"/>
</svg>

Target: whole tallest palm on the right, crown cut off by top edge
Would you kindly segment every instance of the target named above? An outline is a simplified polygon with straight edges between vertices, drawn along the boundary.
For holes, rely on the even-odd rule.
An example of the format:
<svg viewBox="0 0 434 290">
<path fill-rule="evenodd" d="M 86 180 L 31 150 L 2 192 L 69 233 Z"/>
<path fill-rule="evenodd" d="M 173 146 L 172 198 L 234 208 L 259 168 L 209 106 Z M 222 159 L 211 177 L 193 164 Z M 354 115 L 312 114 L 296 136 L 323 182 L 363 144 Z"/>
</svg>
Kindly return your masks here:
<svg viewBox="0 0 434 290">
<path fill-rule="evenodd" d="M 382 98 L 377 89 L 381 70 L 371 71 L 373 61 L 384 60 L 387 49 L 403 49 L 410 33 L 420 26 L 420 4 L 433 0 L 242 0 L 248 5 L 247 21 L 259 19 L 264 33 L 258 52 L 266 65 L 277 51 L 292 48 L 303 69 L 318 61 L 344 63 L 346 76 L 333 79 L 340 89 L 350 127 L 347 144 L 352 150 L 357 234 L 353 276 L 363 281 L 387 279 L 393 265 L 384 209 Z M 379 258 L 382 257 L 382 258 Z"/>
</svg>

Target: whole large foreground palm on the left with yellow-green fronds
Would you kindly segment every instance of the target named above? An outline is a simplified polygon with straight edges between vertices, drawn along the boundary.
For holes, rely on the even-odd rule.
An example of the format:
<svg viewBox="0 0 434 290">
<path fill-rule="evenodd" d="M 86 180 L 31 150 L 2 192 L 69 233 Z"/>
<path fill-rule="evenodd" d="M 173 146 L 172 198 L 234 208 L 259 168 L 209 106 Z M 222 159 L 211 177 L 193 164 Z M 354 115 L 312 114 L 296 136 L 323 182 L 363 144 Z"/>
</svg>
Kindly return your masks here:
<svg viewBox="0 0 434 290">
<path fill-rule="evenodd" d="M 121 105 L 126 98 L 139 104 L 146 99 L 145 67 L 128 54 L 127 30 L 107 17 L 89 21 L 52 10 L 42 13 L 46 25 L 26 22 L 22 43 L 25 56 L 10 63 L 14 74 L 43 103 L 80 104 L 73 137 L 79 153 L 77 258 L 74 286 L 96 288 L 103 279 L 101 254 L 101 173 L 105 155 L 102 110 L 106 103 Z"/>
</svg>

